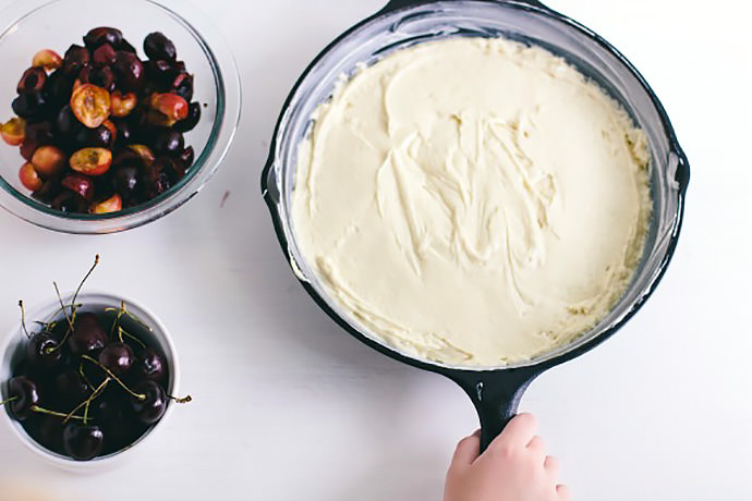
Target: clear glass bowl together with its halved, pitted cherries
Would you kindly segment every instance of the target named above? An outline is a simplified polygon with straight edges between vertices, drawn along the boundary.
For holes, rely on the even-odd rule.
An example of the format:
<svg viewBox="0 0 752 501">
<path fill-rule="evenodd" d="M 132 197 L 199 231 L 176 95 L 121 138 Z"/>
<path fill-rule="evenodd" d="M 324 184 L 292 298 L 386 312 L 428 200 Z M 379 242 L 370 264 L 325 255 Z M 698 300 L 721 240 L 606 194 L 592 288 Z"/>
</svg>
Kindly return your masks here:
<svg viewBox="0 0 752 501">
<path fill-rule="evenodd" d="M 240 82 L 205 16 L 180 11 L 32 0 L 3 12 L 0 206 L 51 230 L 110 233 L 206 184 L 236 130 Z"/>
</svg>

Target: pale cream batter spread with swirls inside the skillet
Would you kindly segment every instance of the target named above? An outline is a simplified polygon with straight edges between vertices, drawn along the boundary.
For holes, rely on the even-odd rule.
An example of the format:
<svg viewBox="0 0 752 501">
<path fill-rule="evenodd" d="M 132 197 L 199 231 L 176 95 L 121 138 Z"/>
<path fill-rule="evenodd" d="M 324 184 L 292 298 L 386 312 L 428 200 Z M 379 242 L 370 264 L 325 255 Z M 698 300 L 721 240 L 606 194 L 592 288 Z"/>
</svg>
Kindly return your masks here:
<svg viewBox="0 0 752 501">
<path fill-rule="evenodd" d="M 411 356 L 536 357 L 599 321 L 640 262 L 646 138 L 546 50 L 403 49 L 342 82 L 314 121 L 299 244 L 341 308 Z"/>
</svg>

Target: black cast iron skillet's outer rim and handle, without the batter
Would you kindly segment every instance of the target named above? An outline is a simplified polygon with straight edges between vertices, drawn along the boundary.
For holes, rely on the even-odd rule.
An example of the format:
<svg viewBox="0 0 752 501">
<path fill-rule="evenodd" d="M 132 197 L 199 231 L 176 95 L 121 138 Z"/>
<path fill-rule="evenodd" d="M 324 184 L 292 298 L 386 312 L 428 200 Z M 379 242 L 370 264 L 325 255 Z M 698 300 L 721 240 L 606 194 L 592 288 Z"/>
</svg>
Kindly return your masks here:
<svg viewBox="0 0 752 501">
<path fill-rule="evenodd" d="M 568 29 L 575 29 L 580 32 L 581 35 L 584 35 L 590 40 L 595 42 L 599 51 L 608 52 L 610 56 L 615 57 L 617 62 L 623 65 L 623 70 L 628 71 L 631 74 L 630 76 L 635 78 L 636 84 L 642 87 L 641 90 L 647 96 L 646 99 L 651 101 L 648 103 L 654 107 L 660 122 L 659 125 L 663 126 L 660 133 L 662 135 L 665 134 L 665 140 L 668 145 L 668 158 L 660 159 L 660 161 L 667 164 L 667 167 L 664 167 L 664 169 L 666 172 L 668 172 L 669 182 L 674 185 L 674 190 L 676 191 L 676 196 L 674 197 L 675 199 L 672 198 L 669 204 L 672 209 L 672 217 L 670 218 L 671 220 L 668 231 L 666 231 L 663 236 L 657 237 L 660 240 L 662 250 L 657 256 L 654 256 L 654 258 L 657 259 L 657 262 L 654 261 L 650 265 L 650 279 L 647 279 L 641 286 L 639 295 L 630 304 L 630 307 L 624 310 L 623 315 L 615 319 L 608 326 L 594 329 L 599 329 L 599 332 L 596 332 L 591 337 L 583 335 L 584 341 L 581 340 L 579 343 L 573 343 L 572 345 L 560 350 L 557 353 L 549 354 L 547 357 L 544 356 L 531 361 L 527 364 L 520 364 L 517 366 L 480 370 L 473 368 L 449 367 L 442 364 L 432 363 L 429 361 L 413 358 L 386 344 L 383 344 L 376 338 L 368 335 L 366 332 L 359 329 L 352 319 L 347 319 L 342 314 L 336 311 L 336 307 L 332 306 L 330 301 L 328 301 L 326 293 L 323 292 L 322 289 L 314 286 L 312 283 L 312 278 L 306 277 L 306 272 L 302 270 L 300 256 L 295 256 L 295 244 L 292 242 L 294 240 L 294 232 L 290 223 L 289 213 L 287 212 L 284 206 L 286 188 L 283 181 L 283 176 L 286 174 L 284 169 L 290 169 L 292 167 L 280 163 L 283 163 L 283 159 L 280 158 L 279 143 L 280 140 L 284 140 L 280 139 L 280 137 L 283 137 L 286 129 L 289 126 L 290 115 L 293 113 L 292 109 L 298 107 L 299 101 L 301 100 L 300 94 L 305 94 L 301 87 L 310 85 L 306 82 L 306 78 L 308 78 L 312 74 L 315 77 L 318 77 L 318 74 L 320 73 L 317 70 L 318 66 L 327 58 L 327 56 L 329 56 L 329 52 L 337 48 L 342 40 L 347 39 L 364 26 L 379 20 L 380 17 L 395 15 L 395 13 L 402 11 L 404 11 L 405 17 L 410 17 L 413 10 L 420 10 L 426 5 L 438 5 L 441 3 L 450 4 L 451 2 L 447 0 L 391 0 L 389 4 L 380 12 L 372 17 L 366 19 L 341 35 L 312 62 L 290 94 L 280 115 L 271 144 L 269 160 L 262 176 L 262 193 L 271 211 L 271 218 L 282 249 L 286 253 L 287 258 L 295 274 L 300 279 L 303 288 L 305 288 L 314 301 L 337 323 L 350 332 L 350 334 L 374 350 L 377 350 L 378 352 L 396 361 L 413 367 L 444 375 L 457 382 L 468 393 L 468 395 L 470 395 L 477 410 L 481 418 L 482 444 L 485 449 L 514 416 L 523 392 L 537 376 L 551 367 L 591 351 L 598 344 L 606 341 L 608 338 L 614 335 L 634 314 L 636 314 L 640 307 L 651 296 L 658 282 L 663 278 L 677 245 L 683 219 L 684 196 L 689 184 L 690 169 L 687 157 L 677 142 L 670 121 L 651 87 L 640 75 L 640 73 L 631 65 L 631 63 L 602 37 L 579 23 L 570 20 L 569 17 L 546 8 L 536 0 L 457 1 L 457 3 L 453 4 L 454 7 L 459 5 L 460 3 L 496 3 L 505 9 L 516 9 L 535 16 L 544 16 L 546 17 L 546 21 L 550 21 L 551 24 L 559 23 L 560 25 L 567 26 Z M 461 36 L 459 30 L 458 35 Z M 310 80 L 311 78 L 308 78 L 308 81 Z M 608 82 L 603 84 L 606 86 L 607 90 L 610 90 L 608 89 Z M 615 96 L 615 98 L 618 98 L 618 96 Z M 627 107 L 627 109 L 631 112 L 629 107 Z M 654 188 L 654 192 L 656 191 L 657 188 Z M 655 198 L 656 194 L 654 193 L 654 204 L 666 203 L 666 200 Z M 676 204 L 676 206 L 672 204 Z M 643 260 L 645 260 L 645 258 L 643 258 Z M 634 286 L 634 284 L 632 286 Z"/>
</svg>

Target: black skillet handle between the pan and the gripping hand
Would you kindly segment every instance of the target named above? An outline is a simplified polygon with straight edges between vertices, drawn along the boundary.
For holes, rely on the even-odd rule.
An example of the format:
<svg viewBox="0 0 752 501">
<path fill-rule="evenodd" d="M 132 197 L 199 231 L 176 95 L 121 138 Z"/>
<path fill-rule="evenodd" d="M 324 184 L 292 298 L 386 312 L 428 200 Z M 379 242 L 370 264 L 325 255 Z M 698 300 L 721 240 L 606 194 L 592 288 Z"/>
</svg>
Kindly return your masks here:
<svg viewBox="0 0 752 501">
<path fill-rule="evenodd" d="M 470 395 L 481 418 L 481 451 L 517 415 L 522 395 L 541 370 L 531 368 L 489 372 L 457 372 L 449 377 Z"/>
</svg>

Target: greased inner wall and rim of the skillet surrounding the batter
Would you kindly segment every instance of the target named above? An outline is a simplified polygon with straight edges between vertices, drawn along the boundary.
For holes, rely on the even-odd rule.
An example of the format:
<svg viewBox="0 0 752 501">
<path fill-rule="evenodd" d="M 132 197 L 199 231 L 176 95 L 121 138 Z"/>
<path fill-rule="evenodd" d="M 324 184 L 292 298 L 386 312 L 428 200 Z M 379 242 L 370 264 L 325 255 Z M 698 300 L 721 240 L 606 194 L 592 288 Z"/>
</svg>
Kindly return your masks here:
<svg viewBox="0 0 752 501">
<path fill-rule="evenodd" d="M 291 216 L 298 148 L 311 131 L 314 110 L 331 97 L 342 76 L 352 76 L 361 64 L 374 64 L 396 50 L 424 41 L 499 36 L 541 46 L 565 58 L 618 100 L 645 131 L 652 156 L 653 219 L 644 256 L 631 286 L 593 329 L 572 343 L 535 359 L 502 367 L 449 367 L 416 359 L 387 345 L 345 313 L 316 277 L 299 247 Z M 618 50 L 581 24 L 536 1 L 399 0 L 344 33 L 305 71 L 280 117 L 262 183 L 292 269 L 319 306 L 351 334 L 393 358 L 442 374 L 451 369 L 493 371 L 535 367 L 543 370 L 606 340 L 651 295 L 677 244 L 689 183 L 689 163 L 663 106 L 644 78 Z"/>
</svg>

